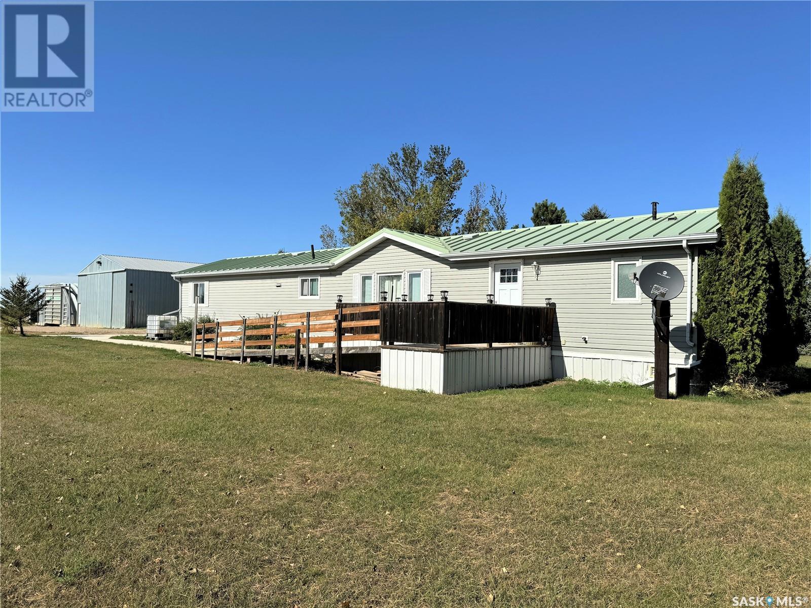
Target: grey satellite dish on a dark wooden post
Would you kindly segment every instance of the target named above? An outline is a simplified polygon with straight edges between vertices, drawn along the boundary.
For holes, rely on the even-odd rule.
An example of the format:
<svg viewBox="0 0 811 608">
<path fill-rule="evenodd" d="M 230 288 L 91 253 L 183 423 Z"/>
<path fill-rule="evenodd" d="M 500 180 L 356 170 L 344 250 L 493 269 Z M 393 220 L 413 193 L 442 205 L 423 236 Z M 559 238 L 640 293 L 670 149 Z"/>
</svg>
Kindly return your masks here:
<svg viewBox="0 0 811 608">
<path fill-rule="evenodd" d="M 684 290 L 681 271 L 667 262 L 653 262 L 634 272 L 632 280 L 650 298 L 654 322 L 654 396 L 667 399 L 670 379 L 670 301 Z"/>
</svg>

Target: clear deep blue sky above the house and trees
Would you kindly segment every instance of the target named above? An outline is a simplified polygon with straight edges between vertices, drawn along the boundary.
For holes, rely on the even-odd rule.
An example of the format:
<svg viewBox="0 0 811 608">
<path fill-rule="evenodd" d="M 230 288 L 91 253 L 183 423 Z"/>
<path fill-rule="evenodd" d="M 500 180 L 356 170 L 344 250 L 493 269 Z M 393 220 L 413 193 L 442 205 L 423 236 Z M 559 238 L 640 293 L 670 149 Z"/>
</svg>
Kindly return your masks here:
<svg viewBox="0 0 811 608">
<path fill-rule="evenodd" d="M 508 221 L 713 207 L 757 156 L 811 200 L 808 2 L 97 2 L 96 111 L 2 114 L 2 280 L 100 253 L 208 262 L 318 246 L 333 195 L 445 143 Z M 246 226 L 241 229 L 240 225 Z"/>
</svg>

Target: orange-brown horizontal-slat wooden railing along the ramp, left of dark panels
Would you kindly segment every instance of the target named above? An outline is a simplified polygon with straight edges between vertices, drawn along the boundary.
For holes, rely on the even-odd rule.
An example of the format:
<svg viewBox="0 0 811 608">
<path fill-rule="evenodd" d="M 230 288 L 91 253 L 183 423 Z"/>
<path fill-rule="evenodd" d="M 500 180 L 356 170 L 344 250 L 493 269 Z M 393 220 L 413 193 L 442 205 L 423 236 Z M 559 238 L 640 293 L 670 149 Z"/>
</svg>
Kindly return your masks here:
<svg viewBox="0 0 811 608">
<path fill-rule="evenodd" d="M 279 346 L 294 347 L 294 366 L 298 368 L 302 349 L 304 366 L 309 369 L 311 345 L 333 345 L 337 374 L 341 373 L 341 345 L 359 340 L 380 340 L 380 305 L 338 306 L 330 310 L 312 310 L 292 315 L 273 315 L 235 321 L 198 323 L 192 336 L 192 352 L 213 358 L 225 349 L 239 350 L 243 362 L 251 350 L 270 347 L 271 365 L 276 363 Z"/>
</svg>

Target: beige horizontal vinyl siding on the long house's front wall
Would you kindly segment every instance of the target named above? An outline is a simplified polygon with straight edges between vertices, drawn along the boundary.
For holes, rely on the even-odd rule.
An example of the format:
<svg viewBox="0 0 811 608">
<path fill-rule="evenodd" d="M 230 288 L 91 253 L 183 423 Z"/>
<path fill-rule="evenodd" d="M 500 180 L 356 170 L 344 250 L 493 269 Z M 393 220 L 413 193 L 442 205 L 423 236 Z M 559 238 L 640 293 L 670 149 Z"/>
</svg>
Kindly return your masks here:
<svg viewBox="0 0 811 608">
<path fill-rule="evenodd" d="M 680 248 L 624 250 L 613 252 L 613 255 L 612 252 L 599 252 L 516 259 L 517 263 L 522 264 L 523 303 L 526 306 L 543 306 L 544 298 L 552 298 L 556 304 L 553 351 L 563 350 L 567 354 L 581 353 L 590 357 L 607 355 L 609 358 L 652 360 L 654 329 L 650 320 L 650 301 L 643 296 L 640 303 L 611 303 L 612 259 L 642 259 L 643 262 L 662 260 L 676 265 L 684 273 L 685 291 L 672 301 L 671 319 L 671 363 L 684 365 L 685 358 L 695 351 L 684 340 L 688 297 L 687 255 Z M 538 280 L 535 280 L 531 265 L 533 261 L 540 266 Z M 200 314 L 229 320 L 238 319 L 240 315 L 328 309 L 334 306 L 338 294 L 344 297 L 345 302 L 353 300 L 355 274 L 421 271 L 427 268 L 431 269 L 431 293 L 436 294 L 436 298 L 439 298 L 442 289 L 447 289 L 452 300 L 486 302 L 491 289 L 489 260 L 449 262 L 411 246 L 382 242 L 345 263 L 337 271 L 278 272 L 199 279 L 208 281 L 208 306 L 201 307 Z M 319 299 L 298 298 L 298 279 L 302 276 L 320 277 Z M 193 315 L 194 306 L 190 304 L 192 282 L 190 278 L 182 283 L 183 317 Z M 277 287 L 277 284 L 281 287 Z M 696 284 L 697 275 L 694 275 L 693 291 Z M 374 289 L 376 296 L 376 285 Z M 581 340 L 584 335 L 589 336 L 587 344 Z"/>
</svg>

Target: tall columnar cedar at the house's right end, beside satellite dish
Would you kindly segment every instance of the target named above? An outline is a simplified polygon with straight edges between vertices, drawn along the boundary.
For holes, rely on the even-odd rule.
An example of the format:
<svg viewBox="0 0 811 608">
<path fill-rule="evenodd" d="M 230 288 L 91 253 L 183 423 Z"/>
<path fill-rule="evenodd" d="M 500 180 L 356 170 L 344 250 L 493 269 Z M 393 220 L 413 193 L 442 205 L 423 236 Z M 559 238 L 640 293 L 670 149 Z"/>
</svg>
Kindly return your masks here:
<svg viewBox="0 0 811 608">
<path fill-rule="evenodd" d="M 737 153 L 723 176 L 718 217 L 721 243 L 699 262 L 696 320 L 704 370 L 740 380 L 768 365 L 763 342 L 773 256 L 761 173 L 754 161 L 744 163 Z"/>
</svg>

